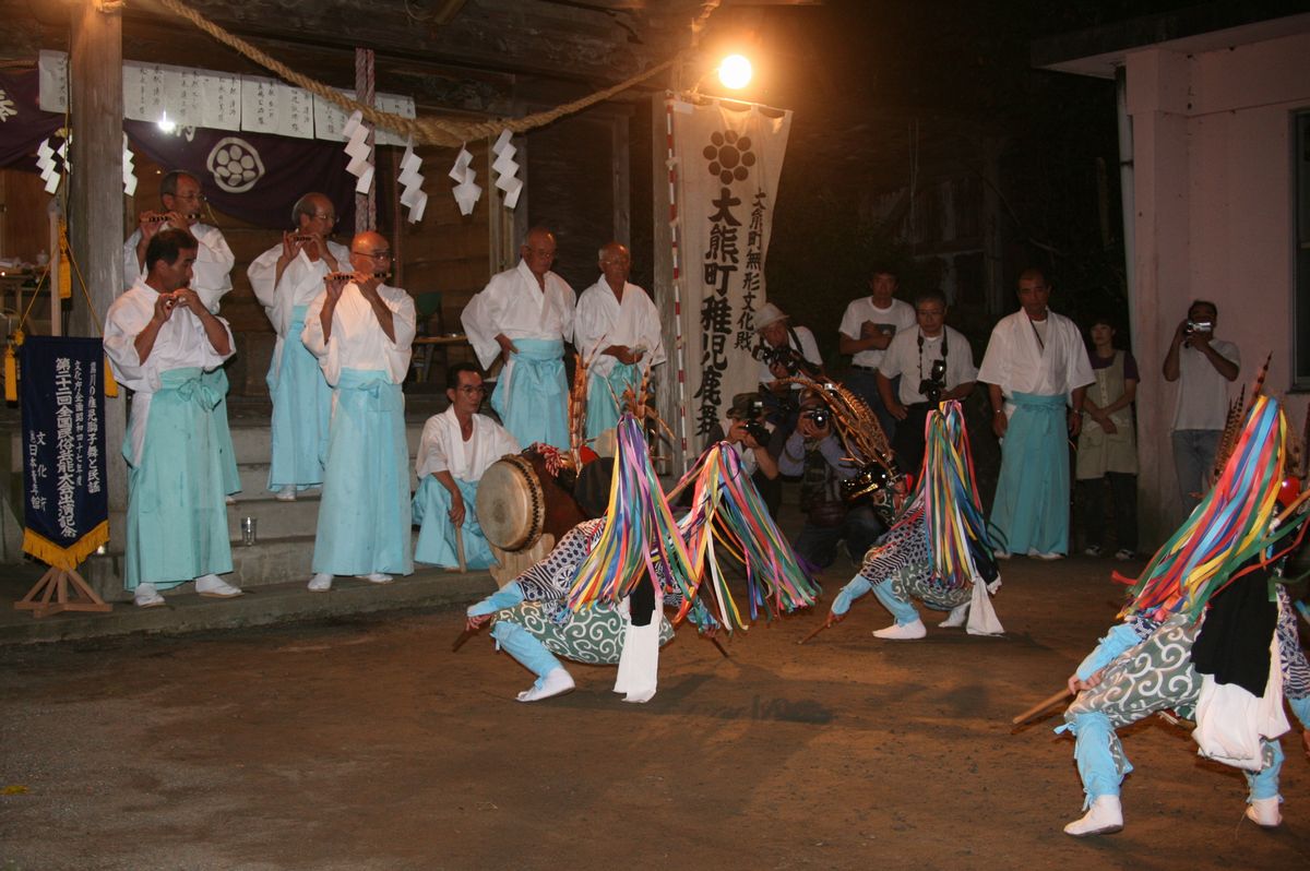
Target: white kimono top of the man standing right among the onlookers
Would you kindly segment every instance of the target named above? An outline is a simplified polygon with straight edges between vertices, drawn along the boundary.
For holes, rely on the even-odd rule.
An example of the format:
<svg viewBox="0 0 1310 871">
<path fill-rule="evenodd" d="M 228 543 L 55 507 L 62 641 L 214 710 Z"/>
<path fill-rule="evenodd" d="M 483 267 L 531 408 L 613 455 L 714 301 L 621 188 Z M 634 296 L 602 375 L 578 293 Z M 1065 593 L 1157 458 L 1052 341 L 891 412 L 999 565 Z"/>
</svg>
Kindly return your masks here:
<svg viewBox="0 0 1310 871">
<path fill-rule="evenodd" d="M 1023 309 L 1001 318 L 979 368 L 979 381 L 998 385 L 1006 398 L 1014 393 L 1068 394 L 1095 380 L 1078 327 L 1049 309 L 1045 326 L 1034 324 Z M 1006 414 L 1013 411 L 1006 402 Z"/>
</svg>

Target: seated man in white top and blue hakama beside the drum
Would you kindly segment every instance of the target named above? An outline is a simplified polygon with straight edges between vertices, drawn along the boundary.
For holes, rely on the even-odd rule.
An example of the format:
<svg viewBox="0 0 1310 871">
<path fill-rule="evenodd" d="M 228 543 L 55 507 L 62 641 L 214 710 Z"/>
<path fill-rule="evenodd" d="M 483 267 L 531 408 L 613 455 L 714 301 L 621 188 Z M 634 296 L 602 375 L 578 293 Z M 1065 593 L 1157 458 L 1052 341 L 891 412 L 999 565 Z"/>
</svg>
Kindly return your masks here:
<svg viewBox="0 0 1310 871">
<path fill-rule="evenodd" d="M 508 430 L 477 413 L 485 392 L 477 367 L 456 363 L 445 375 L 451 406 L 423 424 L 415 462 L 414 525 L 419 527 L 415 562 L 457 567 L 455 528 L 458 527 L 468 568 L 498 565 L 474 511 L 478 481 L 493 462 L 507 453 L 519 453 L 519 443 Z"/>
</svg>

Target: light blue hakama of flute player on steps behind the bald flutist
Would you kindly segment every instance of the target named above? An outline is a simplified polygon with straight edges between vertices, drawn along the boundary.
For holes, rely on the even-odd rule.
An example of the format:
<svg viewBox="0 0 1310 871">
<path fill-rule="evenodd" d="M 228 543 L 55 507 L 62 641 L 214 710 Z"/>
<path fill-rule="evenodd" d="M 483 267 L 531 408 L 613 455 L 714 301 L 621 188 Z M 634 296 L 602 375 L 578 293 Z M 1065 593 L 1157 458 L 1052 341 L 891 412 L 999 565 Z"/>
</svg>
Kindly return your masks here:
<svg viewBox="0 0 1310 871">
<path fill-rule="evenodd" d="M 291 310 L 291 325 L 282 341 L 282 360 L 269 367 L 269 396 L 272 397 L 272 462 L 269 490 L 295 486 L 296 490 L 321 486 L 324 454 L 328 451 L 328 424 L 331 419 L 331 388 L 324 379 L 318 359 L 300 341 L 305 309 Z"/>
</svg>

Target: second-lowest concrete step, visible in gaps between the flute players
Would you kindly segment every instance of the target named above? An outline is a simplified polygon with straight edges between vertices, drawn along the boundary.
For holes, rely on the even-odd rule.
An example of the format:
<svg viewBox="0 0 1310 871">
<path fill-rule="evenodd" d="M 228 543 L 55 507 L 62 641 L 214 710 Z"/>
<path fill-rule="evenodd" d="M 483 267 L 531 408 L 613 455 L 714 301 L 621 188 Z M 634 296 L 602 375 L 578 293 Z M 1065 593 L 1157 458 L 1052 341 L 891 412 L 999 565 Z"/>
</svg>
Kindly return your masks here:
<svg viewBox="0 0 1310 871">
<path fill-rule="evenodd" d="M 279 506 L 282 503 L 278 503 Z M 299 503 L 292 503 L 299 504 Z M 317 500 L 314 502 L 317 508 Z M 280 584 L 299 579 L 307 583 L 314 555 L 314 532 L 287 536 L 282 538 L 263 537 L 263 521 L 259 524 L 258 544 L 246 547 L 240 538 L 232 542 L 232 575 L 227 576 L 242 589 Z M 418 530 L 410 533 L 410 553 L 418 540 Z M 124 554 L 121 542 L 103 555 L 93 555 L 83 563 L 80 572 L 92 589 L 105 601 L 128 601 L 131 596 L 123 589 Z M 427 570 L 426 566 L 423 566 Z M 445 570 L 436 570 L 444 572 Z"/>
</svg>

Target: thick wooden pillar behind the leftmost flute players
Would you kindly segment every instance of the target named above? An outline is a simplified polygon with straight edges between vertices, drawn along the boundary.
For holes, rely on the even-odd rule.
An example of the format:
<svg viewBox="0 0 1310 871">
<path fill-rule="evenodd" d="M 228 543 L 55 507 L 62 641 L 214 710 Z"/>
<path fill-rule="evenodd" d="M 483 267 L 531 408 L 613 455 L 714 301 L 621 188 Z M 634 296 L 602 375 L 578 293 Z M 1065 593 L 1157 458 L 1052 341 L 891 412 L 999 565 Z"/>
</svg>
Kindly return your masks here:
<svg viewBox="0 0 1310 871">
<path fill-rule="evenodd" d="M 96 316 L 123 292 L 123 20 L 97 3 L 69 7 L 68 241 L 86 279 Z M 72 335 L 98 335 L 73 272 Z M 127 469 L 118 461 L 127 420 L 122 396 L 105 399 L 105 456 L 110 511 L 127 507 Z M 122 530 L 114 530 L 122 536 Z"/>
</svg>

